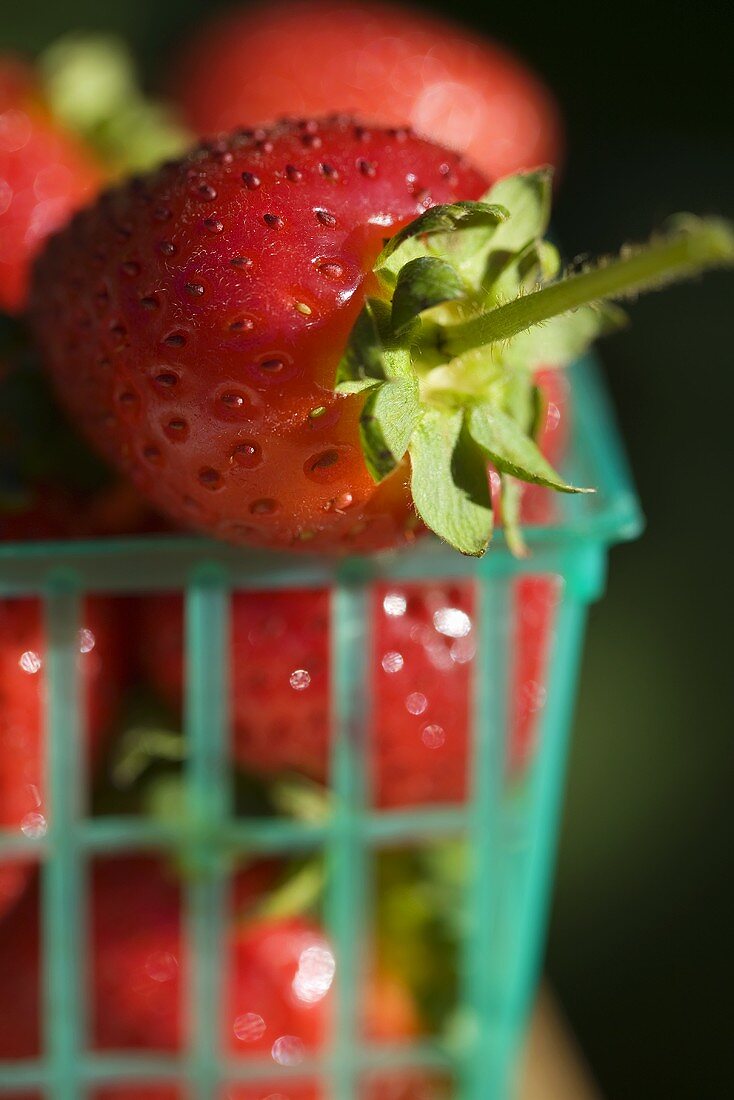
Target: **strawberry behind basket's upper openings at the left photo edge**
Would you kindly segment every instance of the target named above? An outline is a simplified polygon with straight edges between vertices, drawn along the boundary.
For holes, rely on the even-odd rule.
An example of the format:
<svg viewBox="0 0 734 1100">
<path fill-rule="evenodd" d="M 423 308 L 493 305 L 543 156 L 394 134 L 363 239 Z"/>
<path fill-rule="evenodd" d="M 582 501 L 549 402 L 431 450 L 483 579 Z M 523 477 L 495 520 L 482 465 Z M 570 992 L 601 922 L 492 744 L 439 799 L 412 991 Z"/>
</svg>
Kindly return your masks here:
<svg viewBox="0 0 734 1100">
<path fill-rule="evenodd" d="M 79 634 L 90 762 L 99 757 L 124 681 L 114 602 L 85 603 Z M 41 604 L 0 601 L 0 827 L 37 835 L 45 828 L 44 712 L 46 657 Z M 0 864 L 0 916 L 31 873 L 21 861 Z"/>
</svg>

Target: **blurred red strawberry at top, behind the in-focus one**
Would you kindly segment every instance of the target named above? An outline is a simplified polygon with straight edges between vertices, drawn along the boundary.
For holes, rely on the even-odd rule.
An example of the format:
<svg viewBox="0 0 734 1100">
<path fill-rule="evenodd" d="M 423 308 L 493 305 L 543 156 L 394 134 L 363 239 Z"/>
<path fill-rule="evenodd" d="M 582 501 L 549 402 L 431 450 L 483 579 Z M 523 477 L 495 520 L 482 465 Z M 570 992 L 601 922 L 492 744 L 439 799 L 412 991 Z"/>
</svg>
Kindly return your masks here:
<svg viewBox="0 0 734 1100">
<path fill-rule="evenodd" d="M 304 58 L 318 58 L 304 64 Z M 201 134 L 350 111 L 465 153 L 490 178 L 558 163 L 558 108 L 507 50 L 415 9 L 280 0 L 217 19 L 178 59 L 174 95 Z"/>
</svg>

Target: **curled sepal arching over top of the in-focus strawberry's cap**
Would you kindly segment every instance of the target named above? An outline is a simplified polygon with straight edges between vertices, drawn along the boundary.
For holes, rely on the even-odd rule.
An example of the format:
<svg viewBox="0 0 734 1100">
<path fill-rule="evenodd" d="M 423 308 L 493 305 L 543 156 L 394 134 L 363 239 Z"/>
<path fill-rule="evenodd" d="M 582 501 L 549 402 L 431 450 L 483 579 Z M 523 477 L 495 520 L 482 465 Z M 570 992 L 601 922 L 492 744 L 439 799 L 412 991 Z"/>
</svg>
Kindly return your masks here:
<svg viewBox="0 0 734 1100">
<path fill-rule="evenodd" d="M 409 226 L 391 237 L 377 256 L 374 271 L 385 286 L 394 286 L 399 270 L 409 260 L 429 255 L 431 252 L 451 254 L 451 243 L 457 230 L 463 233 L 482 230 L 482 235 L 491 235 L 497 226 L 510 217 L 504 207 L 486 202 L 450 202 L 431 207 L 412 221 Z M 440 234 L 440 241 L 431 241 Z M 472 253 L 476 242 L 472 242 Z"/>
</svg>

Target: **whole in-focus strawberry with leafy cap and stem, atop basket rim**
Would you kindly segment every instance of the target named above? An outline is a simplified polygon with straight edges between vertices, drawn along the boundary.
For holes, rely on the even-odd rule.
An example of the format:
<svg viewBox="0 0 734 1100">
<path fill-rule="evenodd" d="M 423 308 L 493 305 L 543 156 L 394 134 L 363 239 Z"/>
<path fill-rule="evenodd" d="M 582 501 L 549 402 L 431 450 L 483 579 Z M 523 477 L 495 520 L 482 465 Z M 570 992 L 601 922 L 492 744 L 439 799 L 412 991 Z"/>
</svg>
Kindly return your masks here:
<svg viewBox="0 0 734 1100">
<path fill-rule="evenodd" d="M 205 143 L 44 252 L 32 320 L 58 393 L 150 499 L 202 531 L 374 550 L 414 538 L 412 497 L 481 556 L 492 462 L 522 552 L 517 479 L 583 492 L 535 442 L 535 370 L 618 323 L 600 300 L 731 264 L 734 241 L 682 217 L 646 251 L 557 279 L 549 174 L 453 201 L 482 187 L 440 146 L 343 118 Z"/>
</svg>

